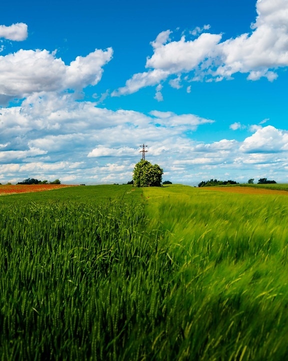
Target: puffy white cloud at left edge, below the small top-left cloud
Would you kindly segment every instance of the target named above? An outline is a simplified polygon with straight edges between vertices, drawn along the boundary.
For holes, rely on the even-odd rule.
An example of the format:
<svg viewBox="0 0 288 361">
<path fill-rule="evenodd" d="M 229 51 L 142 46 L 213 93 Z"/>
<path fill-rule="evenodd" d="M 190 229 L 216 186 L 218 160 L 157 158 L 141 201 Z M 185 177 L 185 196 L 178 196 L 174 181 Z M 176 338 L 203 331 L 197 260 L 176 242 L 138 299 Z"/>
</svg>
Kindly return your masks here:
<svg viewBox="0 0 288 361">
<path fill-rule="evenodd" d="M 42 91 L 81 90 L 95 85 L 111 57 L 111 48 L 79 56 L 69 65 L 47 50 L 19 50 L 0 56 L 0 99 L 2 96 L 7 101 Z"/>
</svg>

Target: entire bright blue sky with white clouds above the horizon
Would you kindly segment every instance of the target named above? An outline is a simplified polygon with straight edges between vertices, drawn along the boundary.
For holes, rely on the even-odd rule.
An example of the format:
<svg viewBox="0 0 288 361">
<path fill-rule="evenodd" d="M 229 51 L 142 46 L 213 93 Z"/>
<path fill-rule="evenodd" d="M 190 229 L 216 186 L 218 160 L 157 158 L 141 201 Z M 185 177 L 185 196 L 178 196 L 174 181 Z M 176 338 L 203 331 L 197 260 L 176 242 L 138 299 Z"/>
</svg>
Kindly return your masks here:
<svg viewBox="0 0 288 361">
<path fill-rule="evenodd" d="M 288 183 L 288 0 L 15 0 L 0 11 L 0 183 Z"/>
</svg>

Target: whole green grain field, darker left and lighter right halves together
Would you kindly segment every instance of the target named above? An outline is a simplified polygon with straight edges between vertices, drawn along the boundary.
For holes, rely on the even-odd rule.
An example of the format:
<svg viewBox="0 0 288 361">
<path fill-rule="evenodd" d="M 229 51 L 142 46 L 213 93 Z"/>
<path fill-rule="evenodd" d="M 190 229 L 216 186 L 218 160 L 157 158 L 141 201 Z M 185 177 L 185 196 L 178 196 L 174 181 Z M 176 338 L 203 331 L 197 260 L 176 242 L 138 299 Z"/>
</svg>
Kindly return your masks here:
<svg viewBox="0 0 288 361">
<path fill-rule="evenodd" d="M 0 197 L 0 359 L 288 359 L 287 224 L 273 193 Z"/>
</svg>

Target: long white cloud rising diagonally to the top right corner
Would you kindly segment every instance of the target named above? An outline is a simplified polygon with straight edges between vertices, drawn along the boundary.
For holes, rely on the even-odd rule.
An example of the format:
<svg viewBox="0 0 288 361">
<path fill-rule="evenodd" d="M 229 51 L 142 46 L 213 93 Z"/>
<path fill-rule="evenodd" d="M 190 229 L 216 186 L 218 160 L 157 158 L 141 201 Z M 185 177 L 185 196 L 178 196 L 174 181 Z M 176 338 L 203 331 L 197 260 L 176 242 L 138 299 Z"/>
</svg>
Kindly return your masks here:
<svg viewBox="0 0 288 361">
<path fill-rule="evenodd" d="M 112 96 L 131 94 L 173 75 L 177 78 L 169 84 L 178 89 L 176 79 L 181 74 L 188 74 L 193 81 L 232 79 L 235 73 L 247 74 L 252 81 L 261 77 L 275 80 L 276 69 L 288 66 L 288 1 L 258 0 L 256 12 L 247 33 L 225 41 L 221 41 L 222 34 L 201 33 L 209 30 L 208 25 L 192 30 L 190 34 L 197 37 L 191 40 L 185 36 L 173 40 L 170 30 L 161 32 L 150 43 L 153 54 L 145 65 L 149 70 L 134 74 Z"/>
</svg>

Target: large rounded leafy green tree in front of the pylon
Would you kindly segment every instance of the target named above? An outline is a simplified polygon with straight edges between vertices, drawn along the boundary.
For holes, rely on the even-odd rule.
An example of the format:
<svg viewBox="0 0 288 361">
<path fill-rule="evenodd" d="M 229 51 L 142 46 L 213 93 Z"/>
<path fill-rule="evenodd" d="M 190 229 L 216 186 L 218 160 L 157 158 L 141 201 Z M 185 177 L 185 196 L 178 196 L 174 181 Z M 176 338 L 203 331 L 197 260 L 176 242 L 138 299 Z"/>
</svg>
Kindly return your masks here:
<svg viewBox="0 0 288 361">
<path fill-rule="evenodd" d="M 135 187 L 161 187 L 163 169 L 141 159 L 135 164 L 133 182 Z"/>
</svg>

